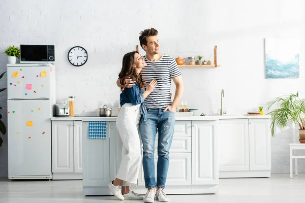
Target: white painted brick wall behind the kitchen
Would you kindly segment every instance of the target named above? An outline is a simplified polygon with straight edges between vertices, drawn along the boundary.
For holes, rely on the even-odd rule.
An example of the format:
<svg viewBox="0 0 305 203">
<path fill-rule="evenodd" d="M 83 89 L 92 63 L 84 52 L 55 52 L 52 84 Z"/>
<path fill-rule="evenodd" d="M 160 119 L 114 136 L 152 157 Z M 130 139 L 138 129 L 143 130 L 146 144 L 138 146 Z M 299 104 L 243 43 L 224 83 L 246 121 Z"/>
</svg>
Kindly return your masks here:
<svg viewBox="0 0 305 203">
<path fill-rule="evenodd" d="M 214 45 L 218 46 L 221 67 L 181 68 L 185 83 L 182 99 L 188 101 L 189 108 L 207 115 L 218 113 L 224 88 L 228 113 L 245 114 L 275 96 L 297 90 L 305 96 L 302 55 L 299 79 L 264 79 L 265 38 L 301 36 L 304 52 L 302 4 L 301 0 L 0 0 L 0 72 L 6 69 L 7 58 L 2 53 L 8 45 L 54 43 L 58 101 L 76 95 L 76 113 L 97 115 L 102 104 L 117 106 L 115 80 L 121 59 L 135 50 L 141 30 L 155 27 L 160 32 L 161 51 L 173 57 L 203 55 L 212 61 Z M 76 45 L 88 51 L 88 62 L 81 67 L 67 60 L 68 50 Z M 6 87 L 6 80 L 0 80 L 0 88 Z M 6 92 L 0 94 L 7 122 Z M 272 138 L 273 173 L 289 172 L 290 134 L 290 129 L 277 130 Z M 0 176 L 7 176 L 6 136 L 4 140 Z M 304 161 L 299 170 L 305 171 Z"/>
</svg>

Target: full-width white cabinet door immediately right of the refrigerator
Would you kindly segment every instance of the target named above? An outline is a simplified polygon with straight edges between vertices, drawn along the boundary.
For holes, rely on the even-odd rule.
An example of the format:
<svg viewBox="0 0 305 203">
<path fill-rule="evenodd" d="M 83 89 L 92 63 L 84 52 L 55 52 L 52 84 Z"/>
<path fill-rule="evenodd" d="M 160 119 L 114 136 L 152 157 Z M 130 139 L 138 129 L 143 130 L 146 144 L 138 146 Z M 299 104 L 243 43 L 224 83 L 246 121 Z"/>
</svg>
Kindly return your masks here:
<svg viewBox="0 0 305 203">
<path fill-rule="evenodd" d="M 73 121 L 52 121 L 52 173 L 73 173 Z"/>
</svg>

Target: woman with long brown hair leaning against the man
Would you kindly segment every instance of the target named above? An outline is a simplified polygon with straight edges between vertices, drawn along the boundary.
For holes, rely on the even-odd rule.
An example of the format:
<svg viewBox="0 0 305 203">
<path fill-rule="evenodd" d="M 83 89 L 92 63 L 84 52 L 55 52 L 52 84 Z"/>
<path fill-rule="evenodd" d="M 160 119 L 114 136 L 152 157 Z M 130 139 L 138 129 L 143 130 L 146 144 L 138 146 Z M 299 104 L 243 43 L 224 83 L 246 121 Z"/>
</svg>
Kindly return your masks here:
<svg viewBox="0 0 305 203">
<path fill-rule="evenodd" d="M 114 181 L 109 183 L 113 195 L 120 200 L 143 199 L 142 196 L 130 190 L 137 185 L 138 174 L 141 164 L 141 145 L 138 133 L 141 114 L 146 120 L 146 107 L 144 98 L 154 90 L 157 81 L 152 80 L 146 91 L 141 79 L 140 72 L 146 66 L 141 55 L 134 51 L 124 55 L 123 66 L 118 75 L 121 84 L 120 105 L 121 109 L 117 116 L 116 126 L 123 142 L 122 159 Z M 125 79 L 130 77 L 135 82 L 131 88 L 125 88 Z M 125 185 L 122 190 L 122 185 Z M 130 186 L 132 186 L 130 188 Z"/>
</svg>

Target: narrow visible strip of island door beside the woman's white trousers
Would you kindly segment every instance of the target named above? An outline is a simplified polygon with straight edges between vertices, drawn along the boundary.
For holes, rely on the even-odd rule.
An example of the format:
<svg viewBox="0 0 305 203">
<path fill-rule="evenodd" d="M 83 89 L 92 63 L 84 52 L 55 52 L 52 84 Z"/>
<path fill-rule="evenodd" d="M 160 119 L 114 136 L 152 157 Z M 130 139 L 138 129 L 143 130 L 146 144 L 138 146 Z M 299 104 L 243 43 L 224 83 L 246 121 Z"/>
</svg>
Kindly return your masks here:
<svg viewBox="0 0 305 203">
<path fill-rule="evenodd" d="M 120 166 L 123 143 L 115 122 L 109 122 L 110 131 L 110 180 L 114 180 Z"/>
</svg>

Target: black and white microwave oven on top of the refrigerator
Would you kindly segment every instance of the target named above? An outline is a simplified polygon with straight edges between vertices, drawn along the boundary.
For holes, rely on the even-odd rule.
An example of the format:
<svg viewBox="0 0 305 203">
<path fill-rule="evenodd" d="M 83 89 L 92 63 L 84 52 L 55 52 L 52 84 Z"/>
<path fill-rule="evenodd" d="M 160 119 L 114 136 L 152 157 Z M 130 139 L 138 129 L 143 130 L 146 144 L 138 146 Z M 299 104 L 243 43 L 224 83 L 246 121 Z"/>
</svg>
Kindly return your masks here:
<svg viewBox="0 0 305 203">
<path fill-rule="evenodd" d="M 20 63 L 54 63 L 54 45 L 20 45 Z"/>
</svg>

